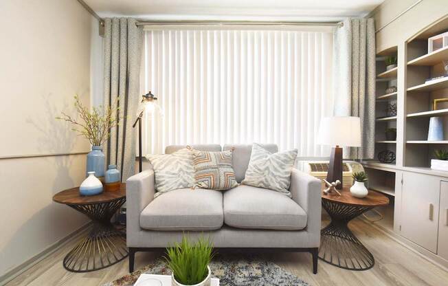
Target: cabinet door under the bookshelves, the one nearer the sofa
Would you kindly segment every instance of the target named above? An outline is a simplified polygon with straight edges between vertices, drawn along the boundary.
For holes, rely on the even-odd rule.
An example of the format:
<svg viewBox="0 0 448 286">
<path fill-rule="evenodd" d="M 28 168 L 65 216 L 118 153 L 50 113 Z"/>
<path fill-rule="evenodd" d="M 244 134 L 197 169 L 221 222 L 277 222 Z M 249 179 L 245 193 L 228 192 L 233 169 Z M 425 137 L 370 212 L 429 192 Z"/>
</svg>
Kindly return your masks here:
<svg viewBox="0 0 448 286">
<path fill-rule="evenodd" d="M 403 172 L 401 235 L 437 252 L 440 179 Z"/>
</svg>

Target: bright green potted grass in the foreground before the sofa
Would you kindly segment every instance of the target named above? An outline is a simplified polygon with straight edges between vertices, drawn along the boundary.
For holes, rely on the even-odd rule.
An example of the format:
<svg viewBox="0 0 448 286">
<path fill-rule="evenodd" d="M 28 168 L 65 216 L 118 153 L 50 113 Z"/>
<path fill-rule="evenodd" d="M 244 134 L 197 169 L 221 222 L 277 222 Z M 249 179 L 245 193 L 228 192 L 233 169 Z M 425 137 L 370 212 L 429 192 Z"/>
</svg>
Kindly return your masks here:
<svg viewBox="0 0 448 286">
<path fill-rule="evenodd" d="M 166 254 L 172 286 L 210 286 L 212 272 L 208 265 L 214 254 L 209 239 L 201 237 L 192 243 L 183 236 L 181 243 L 166 248 Z"/>
</svg>

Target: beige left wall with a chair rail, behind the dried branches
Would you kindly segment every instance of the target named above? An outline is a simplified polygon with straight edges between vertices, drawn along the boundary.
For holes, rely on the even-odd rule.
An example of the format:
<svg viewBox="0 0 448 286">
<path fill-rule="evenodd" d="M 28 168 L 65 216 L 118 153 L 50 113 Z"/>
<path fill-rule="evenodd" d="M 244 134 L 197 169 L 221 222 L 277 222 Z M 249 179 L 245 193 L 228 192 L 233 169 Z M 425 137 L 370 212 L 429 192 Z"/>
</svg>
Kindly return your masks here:
<svg viewBox="0 0 448 286">
<path fill-rule="evenodd" d="M 85 177 L 85 155 L 5 156 L 88 151 L 54 117 L 71 111 L 74 94 L 90 104 L 91 69 L 100 61 L 91 66 L 98 21 L 75 0 L 1 0 L 0 35 L 2 276 L 88 221 L 52 202 Z"/>
</svg>

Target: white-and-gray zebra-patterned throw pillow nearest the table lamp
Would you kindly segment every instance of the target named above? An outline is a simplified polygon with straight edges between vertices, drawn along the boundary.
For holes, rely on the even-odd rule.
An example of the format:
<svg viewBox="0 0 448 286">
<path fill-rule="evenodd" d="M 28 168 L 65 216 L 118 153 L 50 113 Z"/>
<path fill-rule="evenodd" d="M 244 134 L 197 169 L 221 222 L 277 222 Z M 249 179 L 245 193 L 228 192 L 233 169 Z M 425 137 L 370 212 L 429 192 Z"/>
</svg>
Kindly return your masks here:
<svg viewBox="0 0 448 286">
<path fill-rule="evenodd" d="M 295 157 L 297 157 L 297 149 L 270 153 L 260 144 L 254 143 L 249 166 L 241 184 L 277 190 L 292 197 L 289 192 L 289 183 Z"/>
</svg>

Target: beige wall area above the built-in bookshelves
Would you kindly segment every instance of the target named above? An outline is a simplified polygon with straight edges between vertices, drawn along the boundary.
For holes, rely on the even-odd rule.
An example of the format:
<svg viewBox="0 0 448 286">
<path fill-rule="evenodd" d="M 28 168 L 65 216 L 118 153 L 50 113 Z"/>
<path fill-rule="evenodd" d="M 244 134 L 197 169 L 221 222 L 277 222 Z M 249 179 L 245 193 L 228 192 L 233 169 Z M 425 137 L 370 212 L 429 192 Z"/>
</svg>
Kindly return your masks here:
<svg viewBox="0 0 448 286">
<path fill-rule="evenodd" d="M 417 0 L 386 0 L 371 14 L 377 29 L 407 10 Z M 377 32 L 377 52 L 404 43 L 427 26 L 448 14 L 447 0 L 423 0 Z"/>
</svg>

